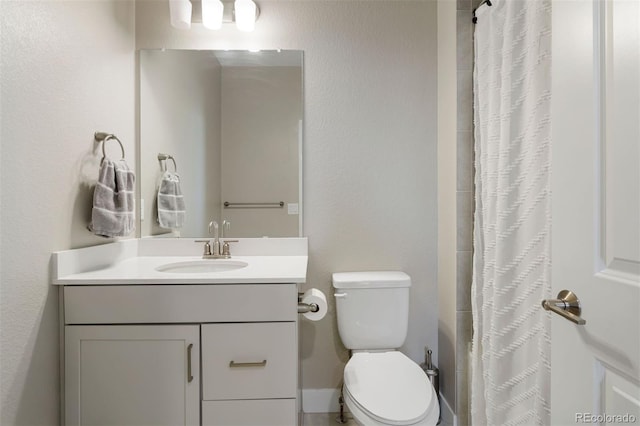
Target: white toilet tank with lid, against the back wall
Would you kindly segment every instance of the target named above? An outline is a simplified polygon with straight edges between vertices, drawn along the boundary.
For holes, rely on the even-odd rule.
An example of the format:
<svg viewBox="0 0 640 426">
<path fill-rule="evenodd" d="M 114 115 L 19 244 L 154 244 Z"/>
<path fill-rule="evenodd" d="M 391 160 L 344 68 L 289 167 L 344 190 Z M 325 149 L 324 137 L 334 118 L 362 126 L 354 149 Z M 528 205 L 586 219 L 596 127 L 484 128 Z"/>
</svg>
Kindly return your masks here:
<svg viewBox="0 0 640 426">
<path fill-rule="evenodd" d="M 347 349 L 397 349 L 407 337 L 411 278 L 400 271 L 333 274 L 338 331 Z"/>
</svg>

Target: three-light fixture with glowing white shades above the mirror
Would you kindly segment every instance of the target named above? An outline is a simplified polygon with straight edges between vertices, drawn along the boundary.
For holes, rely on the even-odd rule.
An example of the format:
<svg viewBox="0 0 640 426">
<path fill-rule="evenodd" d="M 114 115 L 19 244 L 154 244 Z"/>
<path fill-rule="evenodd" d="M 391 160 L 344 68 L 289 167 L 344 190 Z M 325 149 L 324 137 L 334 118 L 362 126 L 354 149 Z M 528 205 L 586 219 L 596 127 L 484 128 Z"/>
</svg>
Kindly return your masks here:
<svg viewBox="0 0 640 426">
<path fill-rule="evenodd" d="M 202 6 L 202 25 L 210 30 L 219 30 L 225 22 L 235 22 L 238 30 L 250 32 L 254 30 L 260 15 L 260 9 L 253 0 L 195 1 Z M 169 0 L 169 12 L 173 27 L 181 30 L 191 28 L 191 0 Z"/>
</svg>

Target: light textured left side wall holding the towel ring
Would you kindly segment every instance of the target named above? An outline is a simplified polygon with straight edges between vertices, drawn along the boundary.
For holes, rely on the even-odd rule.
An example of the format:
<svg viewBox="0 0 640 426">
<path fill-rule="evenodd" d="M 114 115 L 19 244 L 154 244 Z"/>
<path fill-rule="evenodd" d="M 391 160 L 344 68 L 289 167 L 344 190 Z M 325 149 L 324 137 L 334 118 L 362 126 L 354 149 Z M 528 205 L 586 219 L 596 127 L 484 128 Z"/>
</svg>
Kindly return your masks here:
<svg viewBox="0 0 640 426">
<path fill-rule="evenodd" d="M 58 297 L 52 251 L 106 242 L 86 226 L 115 133 L 135 165 L 134 7 L 2 1 L 0 363 L 3 425 L 58 423 Z M 107 154 L 120 155 L 117 143 Z"/>
</svg>

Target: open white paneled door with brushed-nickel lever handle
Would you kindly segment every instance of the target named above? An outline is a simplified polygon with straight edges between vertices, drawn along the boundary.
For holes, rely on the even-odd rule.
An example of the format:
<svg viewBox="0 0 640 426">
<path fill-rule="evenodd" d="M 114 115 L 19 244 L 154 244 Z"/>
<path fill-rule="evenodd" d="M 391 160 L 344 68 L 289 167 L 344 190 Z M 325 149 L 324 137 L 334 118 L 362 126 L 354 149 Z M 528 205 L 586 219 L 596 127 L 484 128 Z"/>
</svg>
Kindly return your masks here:
<svg viewBox="0 0 640 426">
<path fill-rule="evenodd" d="M 552 3 L 553 425 L 640 423 L 640 1 Z"/>
</svg>

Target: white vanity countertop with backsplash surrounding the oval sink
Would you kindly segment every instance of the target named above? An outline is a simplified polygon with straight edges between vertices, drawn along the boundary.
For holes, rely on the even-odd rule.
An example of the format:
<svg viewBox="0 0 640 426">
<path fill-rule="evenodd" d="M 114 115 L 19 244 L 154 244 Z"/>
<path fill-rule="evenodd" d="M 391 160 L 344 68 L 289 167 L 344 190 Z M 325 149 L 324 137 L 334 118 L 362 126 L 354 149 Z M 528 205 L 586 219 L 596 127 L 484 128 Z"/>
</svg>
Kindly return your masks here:
<svg viewBox="0 0 640 426">
<path fill-rule="evenodd" d="M 238 255 L 233 255 L 232 252 L 230 259 L 246 262 L 246 267 L 205 273 L 156 270 L 170 263 L 202 260 L 201 255 L 193 255 L 194 251 L 200 250 L 200 245 L 195 246 L 193 240 L 179 239 L 171 243 L 166 239 L 158 242 L 132 239 L 56 252 L 52 262 L 52 281 L 56 285 L 255 284 L 306 281 L 306 238 L 274 238 L 271 239 L 273 245 L 264 239 L 252 240 L 254 239 L 241 240 L 236 251 Z M 270 254 L 262 255 L 261 251 Z M 250 255 L 247 255 L 248 253 Z"/>
</svg>

